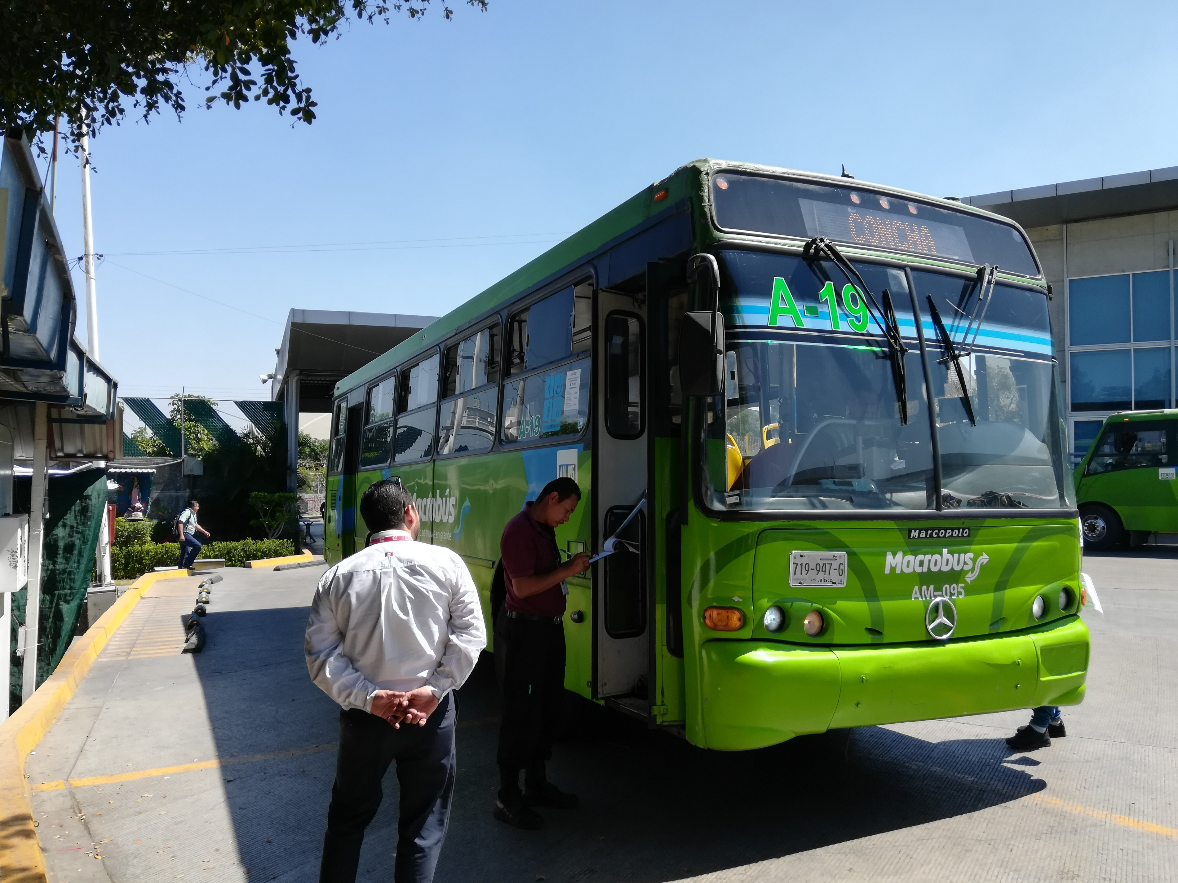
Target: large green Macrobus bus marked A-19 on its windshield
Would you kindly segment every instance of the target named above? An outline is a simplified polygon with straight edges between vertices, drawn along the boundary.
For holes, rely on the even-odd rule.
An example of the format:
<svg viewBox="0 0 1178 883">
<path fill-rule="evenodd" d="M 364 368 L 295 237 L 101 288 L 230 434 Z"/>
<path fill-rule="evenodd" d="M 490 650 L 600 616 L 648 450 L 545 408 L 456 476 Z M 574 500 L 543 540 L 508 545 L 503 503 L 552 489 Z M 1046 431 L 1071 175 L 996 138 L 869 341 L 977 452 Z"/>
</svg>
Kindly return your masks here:
<svg viewBox="0 0 1178 883">
<path fill-rule="evenodd" d="M 573 692 L 723 750 L 1079 703 L 1050 297 L 1006 219 L 690 162 L 337 385 L 327 560 L 399 476 L 490 622 L 567 474 L 561 549 L 622 540 L 569 580 Z"/>
</svg>

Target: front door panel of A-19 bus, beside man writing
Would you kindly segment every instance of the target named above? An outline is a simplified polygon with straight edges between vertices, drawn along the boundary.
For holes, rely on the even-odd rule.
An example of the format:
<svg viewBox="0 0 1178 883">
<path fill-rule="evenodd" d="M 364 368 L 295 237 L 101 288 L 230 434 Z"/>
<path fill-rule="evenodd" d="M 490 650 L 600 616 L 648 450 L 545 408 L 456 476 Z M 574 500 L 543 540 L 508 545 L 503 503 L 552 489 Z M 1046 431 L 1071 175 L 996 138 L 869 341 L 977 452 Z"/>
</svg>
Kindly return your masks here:
<svg viewBox="0 0 1178 883">
<path fill-rule="evenodd" d="M 597 328 L 595 535 L 598 550 L 610 538 L 616 542 L 614 553 L 593 565 L 596 693 L 631 697 L 646 713 L 651 632 L 646 566 L 649 511 L 634 512 L 647 492 L 644 296 L 600 291 Z"/>
</svg>

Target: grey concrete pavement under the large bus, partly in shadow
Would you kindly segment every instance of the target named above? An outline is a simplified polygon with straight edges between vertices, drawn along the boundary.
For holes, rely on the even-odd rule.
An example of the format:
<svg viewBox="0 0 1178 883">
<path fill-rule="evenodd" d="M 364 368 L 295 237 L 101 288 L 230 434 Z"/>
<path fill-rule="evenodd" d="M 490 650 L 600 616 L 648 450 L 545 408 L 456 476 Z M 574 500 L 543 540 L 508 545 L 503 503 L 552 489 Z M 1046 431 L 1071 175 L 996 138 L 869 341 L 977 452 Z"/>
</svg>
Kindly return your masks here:
<svg viewBox="0 0 1178 883">
<path fill-rule="evenodd" d="M 1007 751 L 1018 712 L 726 755 L 578 704 L 551 775 L 583 806 L 545 811 L 542 832 L 491 818 L 484 659 L 459 696 L 437 879 L 1178 878 L 1178 552 L 1085 567 L 1106 613 L 1085 613 L 1088 698 L 1050 749 Z M 140 600 L 26 765 L 51 879 L 316 879 L 337 715 L 302 632 L 322 572 L 224 571 L 199 656 L 176 643 L 197 579 Z M 391 775 L 385 789 L 364 881 L 391 878 Z"/>
</svg>

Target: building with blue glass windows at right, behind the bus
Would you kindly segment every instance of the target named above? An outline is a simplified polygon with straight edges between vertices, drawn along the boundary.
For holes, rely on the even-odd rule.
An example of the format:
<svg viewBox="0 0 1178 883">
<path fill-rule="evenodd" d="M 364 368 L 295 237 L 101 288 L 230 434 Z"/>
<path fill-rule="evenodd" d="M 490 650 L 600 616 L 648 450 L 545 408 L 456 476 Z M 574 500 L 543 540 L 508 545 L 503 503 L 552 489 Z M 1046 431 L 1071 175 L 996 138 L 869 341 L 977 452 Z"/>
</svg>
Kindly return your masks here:
<svg viewBox="0 0 1178 883">
<path fill-rule="evenodd" d="M 1018 221 L 1039 253 L 1073 453 L 1116 411 L 1174 406 L 1178 166 L 961 201 Z"/>
</svg>

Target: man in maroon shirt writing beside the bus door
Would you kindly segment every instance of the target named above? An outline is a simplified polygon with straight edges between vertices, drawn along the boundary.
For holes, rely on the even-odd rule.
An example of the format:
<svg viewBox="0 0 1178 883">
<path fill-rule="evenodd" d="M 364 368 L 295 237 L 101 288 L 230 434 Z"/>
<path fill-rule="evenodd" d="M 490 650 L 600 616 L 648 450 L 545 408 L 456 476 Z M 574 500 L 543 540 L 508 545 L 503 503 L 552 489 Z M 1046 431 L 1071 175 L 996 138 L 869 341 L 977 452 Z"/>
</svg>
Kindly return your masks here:
<svg viewBox="0 0 1178 883">
<path fill-rule="evenodd" d="M 535 503 L 508 522 L 499 540 L 507 597 L 495 626 L 495 669 L 503 692 L 495 817 L 516 828 L 543 828 L 534 806 L 577 805 L 575 795 L 548 781 L 544 762 L 552 756 L 564 701 L 564 580 L 589 567 L 584 552 L 561 563 L 555 529 L 580 502 L 581 489 L 571 478 L 549 482 Z"/>
</svg>

